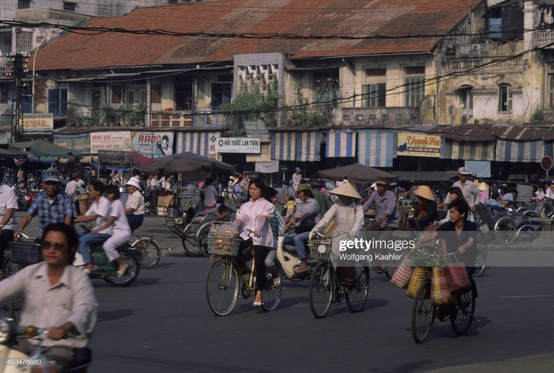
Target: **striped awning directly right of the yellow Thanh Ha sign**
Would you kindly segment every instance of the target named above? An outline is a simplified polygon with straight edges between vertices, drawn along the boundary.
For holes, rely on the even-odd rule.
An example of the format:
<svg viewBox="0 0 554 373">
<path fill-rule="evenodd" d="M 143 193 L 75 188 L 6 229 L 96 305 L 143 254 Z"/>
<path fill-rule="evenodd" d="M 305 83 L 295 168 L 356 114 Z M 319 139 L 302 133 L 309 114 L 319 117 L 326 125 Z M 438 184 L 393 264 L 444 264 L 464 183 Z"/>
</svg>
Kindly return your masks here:
<svg viewBox="0 0 554 373">
<path fill-rule="evenodd" d="M 440 157 L 443 159 L 494 161 L 493 149 L 493 141 L 456 141 L 443 137 L 440 144 Z"/>
</svg>

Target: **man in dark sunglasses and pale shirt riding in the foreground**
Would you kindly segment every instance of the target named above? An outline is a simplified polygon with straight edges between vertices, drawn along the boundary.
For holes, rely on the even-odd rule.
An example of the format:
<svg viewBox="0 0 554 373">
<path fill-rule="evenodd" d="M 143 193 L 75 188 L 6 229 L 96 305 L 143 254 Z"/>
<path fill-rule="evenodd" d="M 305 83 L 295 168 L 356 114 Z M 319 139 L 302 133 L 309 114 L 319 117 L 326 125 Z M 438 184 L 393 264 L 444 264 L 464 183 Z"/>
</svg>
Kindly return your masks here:
<svg viewBox="0 0 554 373">
<path fill-rule="evenodd" d="M 96 324 L 98 302 L 91 281 L 72 265 L 77 245 L 69 225 L 47 225 L 41 244 L 44 261 L 0 281 L 0 300 L 24 298 L 21 325 L 49 328 L 42 354 L 55 361 L 56 372 L 69 370 L 75 349 L 88 344 Z M 23 339 L 14 348 L 32 354 L 37 343 Z"/>
</svg>

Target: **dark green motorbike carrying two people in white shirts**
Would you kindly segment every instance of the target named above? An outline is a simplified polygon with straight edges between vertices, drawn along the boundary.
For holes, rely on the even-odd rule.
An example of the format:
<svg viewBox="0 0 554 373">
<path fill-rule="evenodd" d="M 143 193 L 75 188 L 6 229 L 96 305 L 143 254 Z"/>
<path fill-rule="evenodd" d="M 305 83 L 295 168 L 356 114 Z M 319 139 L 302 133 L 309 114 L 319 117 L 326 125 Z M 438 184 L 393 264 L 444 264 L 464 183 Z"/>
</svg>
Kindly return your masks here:
<svg viewBox="0 0 554 373">
<path fill-rule="evenodd" d="M 91 229 L 87 226 L 81 225 L 85 232 L 90 232 Z M 118 247 L 116 250 L 119 252 L 120 257 L 127 263 L 129 268 L 122 277 L 117 277 L 118 264 L 116 261 L 109 261 L 104 249 L 102 249 L 102 243 L 93 244 L 90 247 L 92 263 L 95 267 L 89 277 L 91 279 L 103 279 L 111 286 L 129 286 L 139 277 L 140 262 L 142 260 L 141 253 L 135 250 L 129 243 L 125 243 Z M 85 263 L 82 260 L 82 255 L 78 252 L 75 253 L 75 261 L 73 266 L 84 268 Z"/>
</svg>

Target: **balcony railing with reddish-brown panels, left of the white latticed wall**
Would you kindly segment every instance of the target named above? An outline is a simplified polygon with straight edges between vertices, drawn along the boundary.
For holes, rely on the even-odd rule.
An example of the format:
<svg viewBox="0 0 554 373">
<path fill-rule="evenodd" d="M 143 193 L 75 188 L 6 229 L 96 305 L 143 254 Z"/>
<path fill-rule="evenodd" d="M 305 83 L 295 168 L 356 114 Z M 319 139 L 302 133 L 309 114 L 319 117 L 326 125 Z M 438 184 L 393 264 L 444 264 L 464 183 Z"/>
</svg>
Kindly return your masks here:
<svg viewBox="0 0 554 373">
<path fill-rule="evenodd" d="M 199 107 L 195 112 L 189 110 L 152 112 L 150 125 L 152 127 L 222 127 L 226 125 L 226 113 L 221 110 L 211 110 L 209 107 Z"/>
</svg>

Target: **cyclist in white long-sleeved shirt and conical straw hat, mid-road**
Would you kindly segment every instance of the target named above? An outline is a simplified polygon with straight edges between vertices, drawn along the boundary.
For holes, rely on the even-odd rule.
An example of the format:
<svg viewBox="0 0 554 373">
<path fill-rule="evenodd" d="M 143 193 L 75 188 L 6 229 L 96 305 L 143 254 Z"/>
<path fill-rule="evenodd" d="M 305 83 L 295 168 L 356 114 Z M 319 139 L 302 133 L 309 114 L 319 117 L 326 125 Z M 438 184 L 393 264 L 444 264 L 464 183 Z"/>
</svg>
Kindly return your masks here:
<svg viewBox="0 0 554 373">
<path fill-rule="evenodd" d="M 323 218 L 314 227 L 314 231 L 328 227 L 334 219 L 334 232 L 359 232 L 364 225 L 364 207 L 362 207 L 361 196 L 356 189 L 354 189 L 352 184 L 346 182 L 329 193 L 336 194 L 339 197 L 339 202 L 334 203 L 328 209 Z M 332 248 L 333 251 L 336 251 L 335 254 L 339 251 L 339 241 L 341 238 L 346 239 L 348 237 L 337 236 L 333 239 Z M 337 275 L 339 275 L 341 281 L 353 284 L 356 275 L 355 267 L 339 266 L 337 268 Z"/>
</svg>

